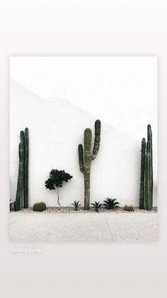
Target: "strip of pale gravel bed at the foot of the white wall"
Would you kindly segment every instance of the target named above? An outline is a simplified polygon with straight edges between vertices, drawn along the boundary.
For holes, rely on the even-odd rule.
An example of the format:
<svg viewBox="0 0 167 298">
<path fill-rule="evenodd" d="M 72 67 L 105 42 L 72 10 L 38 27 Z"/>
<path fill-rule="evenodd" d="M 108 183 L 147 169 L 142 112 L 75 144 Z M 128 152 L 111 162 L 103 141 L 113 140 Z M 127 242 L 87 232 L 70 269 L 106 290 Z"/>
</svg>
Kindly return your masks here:
<svg viewBox="0 0 167 298">
<path fill-rule="evenodd" d="M 14 211 L 11 211 L 14 212 Z M 47 207 L 45 211 L 42 213 L 95 213 L 96 211 L 93 208 L 90 210 L 84 210 L 84 207 L 80 207 L 78 211 L 74 211 L 73 207 Z M 106 208 L 100 208 L 99 213 L 129 213 L 129 211 L 125 211 L 123 207 L 118 207 L 113 210 L 107 210 Z M 152 211 L 141 210 L 138 207 L 134 207 L 134 211 L 132 213 L 156 213 L 157 207 L 152 208 Z M 17 211 L 17 213 L 34 213 L 33 208 L 23 209 L 21 211 Z"/>
</svg>

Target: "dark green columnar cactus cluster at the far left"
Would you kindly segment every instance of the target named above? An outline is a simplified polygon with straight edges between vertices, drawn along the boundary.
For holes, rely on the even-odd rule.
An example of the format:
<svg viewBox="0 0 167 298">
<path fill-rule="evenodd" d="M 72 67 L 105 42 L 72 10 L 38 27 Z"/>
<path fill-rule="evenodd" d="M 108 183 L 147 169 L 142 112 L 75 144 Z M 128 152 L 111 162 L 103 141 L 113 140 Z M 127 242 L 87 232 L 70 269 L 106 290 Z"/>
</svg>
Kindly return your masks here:
<svg viewBox="0 0 167 298">
<path fill-rule="evenodd" d="M 20 133 L 21 142 L 18 145 L 18 183 L 16 191 L 16 201 L 14 202 L 15 211 L 28 208 L 28 155 L 29 155 L 29 139 L 28 128 Z"/>
</svg>

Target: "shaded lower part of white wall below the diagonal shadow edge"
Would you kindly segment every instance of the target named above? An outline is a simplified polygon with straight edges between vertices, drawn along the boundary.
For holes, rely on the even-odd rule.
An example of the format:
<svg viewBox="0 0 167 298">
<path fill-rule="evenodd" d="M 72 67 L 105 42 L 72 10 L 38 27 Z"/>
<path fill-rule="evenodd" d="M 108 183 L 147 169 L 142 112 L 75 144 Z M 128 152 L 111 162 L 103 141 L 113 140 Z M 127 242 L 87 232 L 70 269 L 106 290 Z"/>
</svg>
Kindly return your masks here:
<svg viewBox="0 0 167 298">
<path fill-rule="evenodd" d="M 64 98 L 38 97 L 12 79 L 10 97 L 12 201 L 16 197 L 19 132 L 28 127 L 30 206 L 35 201 L 45 201 L 47 206 L 57 206 L 57 194 L 45 188 L 45 180 L 52 169 L 64 169 L 74 177 L 61 188 L 62 206 L 68 206 L 74 200 L 79 200 L 83 204 L 84 177 L 79 171 L 77 149 L 78 144 L 84 141 L 84 129 L 86 127 L 93 129 L 97 117 Z M 111 109 L 110 105 L 103 106 L 103 102 L 100 105 L 101 109 Z M 103 201 L 109 196 L 117 198 L 122 206 L 125 203 L 138 206 L 140 141 L 135 136 L 133 138 L 106 123 L 104 119 L 101 119 L 101 126 L 100 151 L 91 163 L 91 202 Z M 142 137 L 146 137 L 146 127 L 141 139 Z M 154 173 L 155 205 L 156 169 Z"/>
</svg>

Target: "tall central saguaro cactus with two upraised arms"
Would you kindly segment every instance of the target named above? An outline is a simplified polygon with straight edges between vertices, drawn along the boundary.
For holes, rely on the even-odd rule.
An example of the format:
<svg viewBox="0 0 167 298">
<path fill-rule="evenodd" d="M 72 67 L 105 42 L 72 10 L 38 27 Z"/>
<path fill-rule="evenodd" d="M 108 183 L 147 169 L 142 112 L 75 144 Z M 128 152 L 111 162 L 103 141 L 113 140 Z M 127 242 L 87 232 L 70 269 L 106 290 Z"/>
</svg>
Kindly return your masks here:
<svg viewBox="0 0 167 298">
<path fill-rule="evenodd" d="M 100 147 L 100 120 L 95 122 L 95 139 L 93 151 L 91 154 L 92 132 L 90 128 L 84 131 L 84 148 L 79 144 L 79 169 L 84 174 L 84 208 L 88 210 L 90 207 L 90 177 L 91 177 L 91 161 L 96 159 Z"/>
</svg>

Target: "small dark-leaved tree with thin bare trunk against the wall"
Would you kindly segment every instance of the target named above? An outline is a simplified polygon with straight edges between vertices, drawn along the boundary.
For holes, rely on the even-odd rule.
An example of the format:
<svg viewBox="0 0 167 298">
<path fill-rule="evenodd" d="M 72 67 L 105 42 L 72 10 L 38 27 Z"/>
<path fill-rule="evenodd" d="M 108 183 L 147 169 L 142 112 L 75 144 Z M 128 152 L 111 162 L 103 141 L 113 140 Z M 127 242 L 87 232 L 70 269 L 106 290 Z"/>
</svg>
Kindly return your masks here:
<svg viewBox="0 0 167 298">
<path fill-rule="evenodd" d="M 50 177 L 45 181 L 45 187 L 49 188 L 50 191 L 57 188 L 57 203 L 59 203 L 59 188 L 62 187 L 63 182 L 68 182 L 71 178 L 73 178 L 69 173 L 66 173 L 64 170 L 52 170 L 50 171 Z"/>
</svg>

